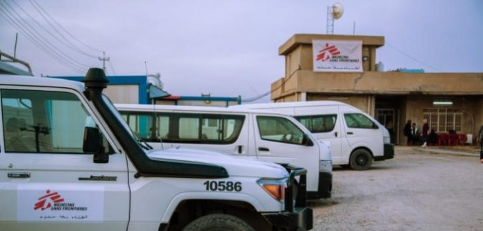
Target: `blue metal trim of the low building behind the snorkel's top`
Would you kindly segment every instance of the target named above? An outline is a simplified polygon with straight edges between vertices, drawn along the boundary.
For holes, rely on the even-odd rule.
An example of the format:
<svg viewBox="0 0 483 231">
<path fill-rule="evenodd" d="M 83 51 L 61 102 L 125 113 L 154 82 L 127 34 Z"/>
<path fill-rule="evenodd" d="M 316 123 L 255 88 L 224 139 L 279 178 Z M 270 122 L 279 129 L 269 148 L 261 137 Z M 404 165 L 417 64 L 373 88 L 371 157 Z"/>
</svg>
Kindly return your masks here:
<svg viewBox="0 0 483 231">
<path fill-rule="evenodd" d="M 50 78 L 63 78 L 66 80 L 74 80 L 82 82 L 84 76 L 48 76 Z M 148 104 L 148 82 L 147 76 L 107 76 L 108 85 L 137 85 L 139 88 L 139 104 Z"/>
</svg>

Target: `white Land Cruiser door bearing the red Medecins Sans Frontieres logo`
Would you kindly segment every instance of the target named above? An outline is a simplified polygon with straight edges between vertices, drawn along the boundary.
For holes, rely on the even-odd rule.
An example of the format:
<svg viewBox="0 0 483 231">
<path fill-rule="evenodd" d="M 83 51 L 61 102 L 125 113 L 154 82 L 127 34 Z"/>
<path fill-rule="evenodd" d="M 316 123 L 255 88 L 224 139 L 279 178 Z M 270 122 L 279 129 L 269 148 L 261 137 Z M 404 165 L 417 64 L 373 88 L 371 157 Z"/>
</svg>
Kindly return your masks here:
<svg viewBox="0 0 483 231">
<path fill-rule="evenodd" d="M 126 230 L 126 156 L 113 151 L 75 91 L 1 89 L 0 226 L 4 230 Z M 106 164 L 83 151 L 100 131 Z"/>
</svg>

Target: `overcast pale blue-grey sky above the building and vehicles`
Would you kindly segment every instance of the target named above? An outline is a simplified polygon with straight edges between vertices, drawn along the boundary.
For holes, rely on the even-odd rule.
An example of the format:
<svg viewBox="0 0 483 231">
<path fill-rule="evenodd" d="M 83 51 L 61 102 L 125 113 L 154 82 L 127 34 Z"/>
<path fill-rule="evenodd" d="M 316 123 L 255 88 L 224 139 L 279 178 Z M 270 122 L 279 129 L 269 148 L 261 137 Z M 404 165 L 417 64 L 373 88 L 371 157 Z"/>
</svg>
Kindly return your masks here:
<svg viewBox="0 0 483 231">
<path fill-rule="evenodd" d="M 146 74 L 146 61 L 170 94 L 251 98 L 284 76 L 278 47 L 293 34 L 325 34 L 327 6 L 336 2 L 344 16 L 335 34 L 353 34 L 355 22 L 355 34 L 385 36 L 376 59 L 386 70 L 483 72 L 479 0 L 0 0 L 0 50 L 13 54 L 18 32 L 17 58 L 36 75 L 82 76 L 106 51 L 108 74 Z M 43 48 L 32 42 L 42 39 Z M 46 46 L 57 47 L 56 58 Z"/>
</svg>

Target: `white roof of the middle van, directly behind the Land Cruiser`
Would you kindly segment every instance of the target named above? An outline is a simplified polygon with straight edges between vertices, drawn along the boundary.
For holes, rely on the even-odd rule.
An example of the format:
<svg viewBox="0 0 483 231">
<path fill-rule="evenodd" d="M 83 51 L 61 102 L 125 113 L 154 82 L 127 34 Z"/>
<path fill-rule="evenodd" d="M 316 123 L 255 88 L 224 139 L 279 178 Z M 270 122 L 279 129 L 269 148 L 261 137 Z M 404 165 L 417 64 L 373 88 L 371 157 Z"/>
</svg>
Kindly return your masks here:
<svg viewBox="0 0 483 231">
<path fill-rule="evenodd" d="M 181 106 L 181 105 L 164 105 L 164 104 L 115 104 L 118 110 L 128 110 L 128 109 L 140 109 L 142 111 L 152 111 L 153 107 L 157 110 L 165 111 L 203 111 L 206 113 L 264 113 L 271 115 L 283 115 L 284 113 L 278 113 L 275 111 L 268 110 L 255 110 L 248 109 L 244 107 L 203 107 L 203 106 Z"/>
</svg>

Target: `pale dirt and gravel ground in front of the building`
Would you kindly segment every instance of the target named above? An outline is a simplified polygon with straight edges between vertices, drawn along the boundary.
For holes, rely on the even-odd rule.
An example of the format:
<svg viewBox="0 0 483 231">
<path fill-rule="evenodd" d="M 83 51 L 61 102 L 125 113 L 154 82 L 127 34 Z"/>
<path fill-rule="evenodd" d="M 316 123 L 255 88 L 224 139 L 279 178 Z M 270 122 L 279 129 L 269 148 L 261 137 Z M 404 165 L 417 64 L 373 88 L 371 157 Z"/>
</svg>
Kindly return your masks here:
<svg viewBox="0 0 483 231">
<path fill-rule="evenodd" d="M 334 168 L 333 197 L 309 206 L 313 230 L 483 230 L 483 164 L 401 147 L 370 170 Z"/>
</svg>

